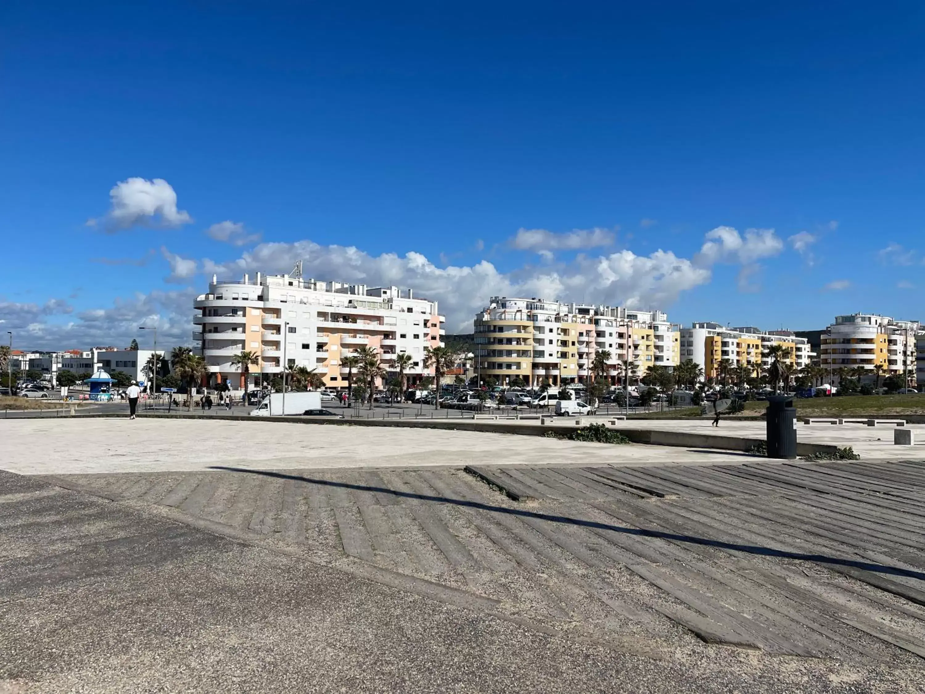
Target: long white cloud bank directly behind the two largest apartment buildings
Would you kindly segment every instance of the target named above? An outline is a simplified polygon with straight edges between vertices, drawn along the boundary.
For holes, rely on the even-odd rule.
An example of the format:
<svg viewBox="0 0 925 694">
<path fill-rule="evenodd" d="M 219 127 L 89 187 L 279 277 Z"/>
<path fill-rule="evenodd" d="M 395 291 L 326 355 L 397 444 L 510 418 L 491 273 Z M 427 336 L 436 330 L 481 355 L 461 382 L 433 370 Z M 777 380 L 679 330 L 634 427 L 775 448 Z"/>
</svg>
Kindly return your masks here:
<svg viewBox="0 0 925 694">
<path fill-rule="evenodd" d="M 524 266 L 502 273 L 484 260 L 474 266 L 438 267 L 419 253 L 370 255 L 353 246 L 311 241 L 261 243 L 228 263 L 203 260 L 203 272 L 226 279 L 257 271 L 284 273 L 300 259 L 306 277 L 411 287 L 416 295 L 438 301 L 450 331 L 464 332 L 472 329 L 475 312 L 496 294 L 667 307 L 681 292 L 710 279 L 709 269 L 666 251 L 579 254 L 566 264 Z"/>
</svg>

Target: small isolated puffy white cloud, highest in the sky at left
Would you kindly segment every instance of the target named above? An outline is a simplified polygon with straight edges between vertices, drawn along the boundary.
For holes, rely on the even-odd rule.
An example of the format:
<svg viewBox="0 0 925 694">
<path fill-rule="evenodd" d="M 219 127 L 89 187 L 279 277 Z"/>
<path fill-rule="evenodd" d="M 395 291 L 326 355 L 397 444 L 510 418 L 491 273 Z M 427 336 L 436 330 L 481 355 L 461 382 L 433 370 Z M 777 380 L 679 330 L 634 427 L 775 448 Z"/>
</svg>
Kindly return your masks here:
<svg viewBox="0 0 925 694">
<path fill-rule="evenodd" d="M 102 223 L 107 231 L 129 229 L 135 225 L 179 227 L 192 221 L 177 208 L 177 193 L 164 179 L 132 178 L 118 182 L 109 192 L 110 208 L 104 217 L 87 223 Z"/>
</svg>

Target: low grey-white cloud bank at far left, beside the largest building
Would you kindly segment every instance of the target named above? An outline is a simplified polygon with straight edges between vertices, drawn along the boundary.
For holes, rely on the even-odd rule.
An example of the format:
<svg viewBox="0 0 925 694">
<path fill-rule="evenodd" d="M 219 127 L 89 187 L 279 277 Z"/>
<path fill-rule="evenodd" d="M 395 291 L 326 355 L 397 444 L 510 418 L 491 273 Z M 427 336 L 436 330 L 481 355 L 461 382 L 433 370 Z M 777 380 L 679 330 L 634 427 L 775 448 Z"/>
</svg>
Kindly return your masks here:
<svg viewBox="0 0 925 694">
<path fill-rule="evenodd" d="M 14 331 L 22 349 L 85 350 L 100 344 L 129 344 L 132 338 L 139 339 L 142 325 L 156 326 L 158 349 L 162 345 L 169 349 L 191 343 L 192 300 L 198 293 L 192 289 L 137 293 L 76 314 L 58 299 L 41 306 L 0 301 L 0 320 L 5 330 Z M 68 314 L 73 319 L 61 319 Z"/>
</svg>

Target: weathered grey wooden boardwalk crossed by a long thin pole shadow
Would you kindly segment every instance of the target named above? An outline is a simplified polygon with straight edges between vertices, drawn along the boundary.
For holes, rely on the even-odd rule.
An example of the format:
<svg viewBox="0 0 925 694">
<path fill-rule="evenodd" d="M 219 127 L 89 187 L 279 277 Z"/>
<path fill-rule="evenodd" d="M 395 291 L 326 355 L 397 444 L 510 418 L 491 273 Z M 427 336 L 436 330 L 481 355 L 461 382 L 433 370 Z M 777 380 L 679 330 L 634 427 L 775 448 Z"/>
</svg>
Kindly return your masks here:
<svg viewBox="0 0 925 694">
<path fill-rule="evenodd" d="M 417 585 L 587 638 L 925 658 L 921 463 L 216 469 L 53 481 L 169 506 L 313 561 L 425 579 Z"/>
</svg>

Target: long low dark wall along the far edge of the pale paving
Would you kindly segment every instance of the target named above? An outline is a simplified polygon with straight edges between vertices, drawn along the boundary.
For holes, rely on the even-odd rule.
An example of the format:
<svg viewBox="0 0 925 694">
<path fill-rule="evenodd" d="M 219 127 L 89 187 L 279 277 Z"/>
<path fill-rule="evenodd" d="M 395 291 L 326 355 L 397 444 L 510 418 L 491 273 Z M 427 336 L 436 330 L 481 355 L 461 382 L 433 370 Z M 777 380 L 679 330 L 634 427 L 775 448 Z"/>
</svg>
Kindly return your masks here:
<svg viewBox="0 0 925 694">
<path fill-rule="evenodd" d="M 127 416 L 125 414 L 101 414 L 78 416 Z M 450 431 L 487 431 L 495 434 L 515 434 L 518 436 L 545 436 L 547 432 L 568 433 L 579 429 L 573 425 L 542 426 L 528 422 L 493 421 L 473 419 L 315 419 L 314 417 L 253 417 L 250 415 L 200 415 L 187 413 L 182 415 L 144 414 L 140 417 L 158 419 L 171 419 L 182 417 L 185 419 L 220 419 L 224 421 L 239 422 L 290 422 L 292 424 L 314 424 L 334 427 L 400 427 L 422 429 L 445 429 Z M 533 420 L 536 422 L 536 420 Z M 709 448 L 719 451 L 748 451 L 752 446 L 764 443 L 763 439 L 744 439 L 736 436 L 719 436 L 717 434 L 695 434 L 685 431 L 663 431 L 661 429 L 634 429 L 613 428 L 619 431 L 633 443 L 644 443 L 653 446 L 677 446 L 681 448 Z M 812 453 L 833 453 L 837 446 L 823 443 L 797 443 L 797 455 L 811 455 Z"/>
</svg>

